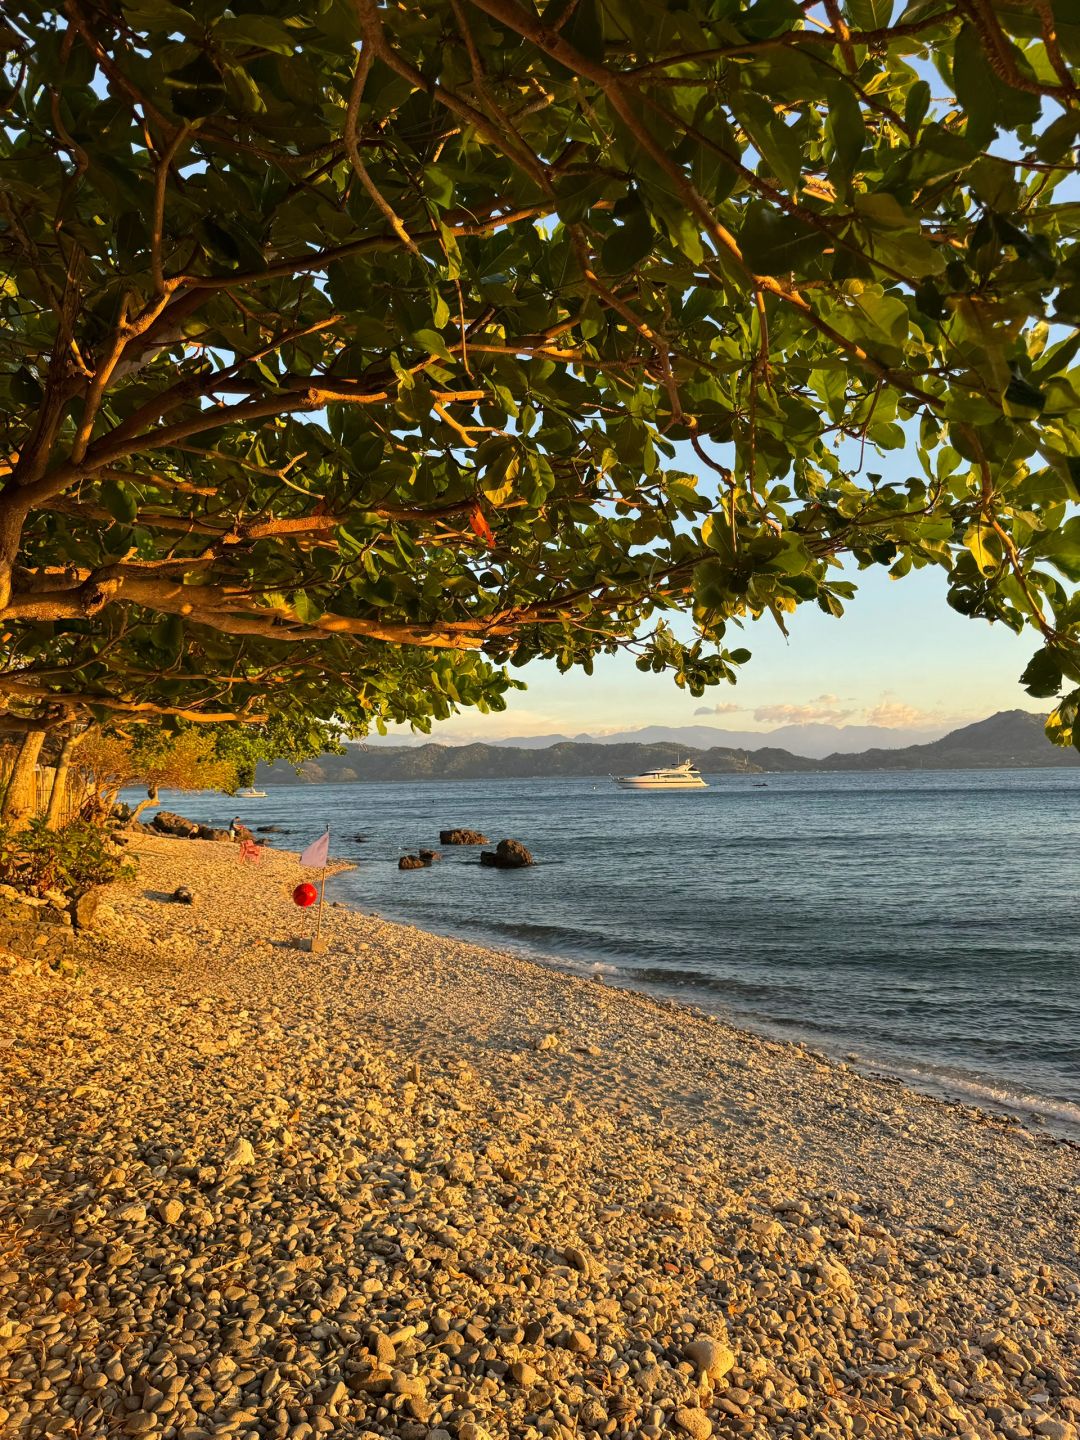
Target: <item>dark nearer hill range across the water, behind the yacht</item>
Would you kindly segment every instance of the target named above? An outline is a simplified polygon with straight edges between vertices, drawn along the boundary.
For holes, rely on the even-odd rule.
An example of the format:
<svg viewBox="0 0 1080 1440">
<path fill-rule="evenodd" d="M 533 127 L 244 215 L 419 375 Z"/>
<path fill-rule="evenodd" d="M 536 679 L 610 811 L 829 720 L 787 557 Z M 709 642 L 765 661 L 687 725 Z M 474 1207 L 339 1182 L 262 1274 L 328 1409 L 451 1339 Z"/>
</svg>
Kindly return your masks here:
<svg viewBox="0 0 1080 1440">
<path fill-rule="evenodd" d="M 269 785 L 343 785 L 373 780 L 481 780 L 528 779 L 556 775 L 635 775 L 661 765 L 693 759 L 706 775 L 760 773 L 763 770 L 991 770 L 1015 766 L 1074 766 L 1080 753 L 1050 744 L 1043 717 L 1027 710 L 1002 710 L 988 720 L 963 726 L 929 744 L 901 750 L 864 750 L 811 759 L 779 747 L 756 750 L 711 746 L 691 749 L 657 743 L 582 743 L 562 740 L 543 750 L 505 744 L 350 744 L 344 755 L 321 755 L 301 773 L 284 763 L 259 766 L 258 779 Z"/>
</svg>

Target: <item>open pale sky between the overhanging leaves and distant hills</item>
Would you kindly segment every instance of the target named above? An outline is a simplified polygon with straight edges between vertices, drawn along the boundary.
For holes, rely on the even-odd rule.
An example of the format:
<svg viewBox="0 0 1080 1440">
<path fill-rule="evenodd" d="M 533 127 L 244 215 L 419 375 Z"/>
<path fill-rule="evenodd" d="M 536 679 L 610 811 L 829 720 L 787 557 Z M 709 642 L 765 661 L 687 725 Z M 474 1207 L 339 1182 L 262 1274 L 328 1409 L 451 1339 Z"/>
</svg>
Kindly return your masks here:
<svg viewBox="0 0 1080 1440">
<path fill-rule="evenodd" d="M 945 730 L 996 710 L 1047 711 L 1020 674 L 1038 649 L 1034 631 L 966 619 L 945 599 L 945 577 L 923 570 L 890 580 L 884 569 L 855 576 L 855 599 L 841 619 L 804 605 L 788 616 L 785 639 L 772 619 L 742 634 L 752 660 L 737 685 L 694 698 L 670 675 L 644 675 L 629 655 L 600 657 L 592 675 L 560 675 L 536 662 L 514 674 L 528 685 L 501 714 L 464 713 L 433 727 L 432 739 L 497 740 L 528 734 L 590 734 L 648 724 L 716 724 L 766 733 L 783 724 L 880 724 Z"/>
</svg>

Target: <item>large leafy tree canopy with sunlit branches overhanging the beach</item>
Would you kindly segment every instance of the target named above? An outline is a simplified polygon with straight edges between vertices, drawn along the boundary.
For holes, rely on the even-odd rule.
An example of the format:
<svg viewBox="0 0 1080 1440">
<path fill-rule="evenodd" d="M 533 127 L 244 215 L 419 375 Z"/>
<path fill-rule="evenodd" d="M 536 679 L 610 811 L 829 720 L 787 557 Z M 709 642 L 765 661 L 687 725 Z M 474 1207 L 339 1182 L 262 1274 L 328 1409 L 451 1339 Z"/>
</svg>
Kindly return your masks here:
<svg viewBox="0 0 1080 1440">
<path fill-rule="evenodd" d="M 1080 683 L 1064 0 L 6 23 L 10 707 L 423 724 L 619 645 L 698 694 L 844 557 Z"/>
</svg>

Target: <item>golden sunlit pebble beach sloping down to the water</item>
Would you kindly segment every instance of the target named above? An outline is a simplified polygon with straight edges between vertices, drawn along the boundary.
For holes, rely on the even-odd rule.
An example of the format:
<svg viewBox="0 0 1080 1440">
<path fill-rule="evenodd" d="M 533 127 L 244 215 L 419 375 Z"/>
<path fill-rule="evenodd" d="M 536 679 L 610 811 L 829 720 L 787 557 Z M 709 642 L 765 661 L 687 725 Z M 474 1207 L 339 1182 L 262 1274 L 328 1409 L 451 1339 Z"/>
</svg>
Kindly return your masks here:
<svg viewBox="0 0 1080 1440">
<path fill-rule="evenodd" d="M 1076 1143 L 130 848 L 0 955 L 0 1436 L 1079 1440 Z"/>
</svg>

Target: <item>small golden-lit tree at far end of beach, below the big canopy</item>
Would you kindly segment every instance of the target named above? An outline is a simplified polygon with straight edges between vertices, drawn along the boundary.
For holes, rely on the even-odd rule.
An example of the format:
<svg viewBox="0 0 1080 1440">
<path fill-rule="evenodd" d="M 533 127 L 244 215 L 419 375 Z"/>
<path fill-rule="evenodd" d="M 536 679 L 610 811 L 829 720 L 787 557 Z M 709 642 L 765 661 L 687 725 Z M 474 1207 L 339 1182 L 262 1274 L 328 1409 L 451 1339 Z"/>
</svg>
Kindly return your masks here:
<svg viewBox="0 0 1080 1440">
<path fill-rule="evenodd" d="M 190 727 L 177 733 L 157 726 L 140 726 L 134 734 L 91 734 L 81 746 L 75 762 L 94 786 L 99 806 L 105 811 L 117 804 L 121 789 L 145 785 L 147 798 L 134 812 L 157 805 L 158 792 L 236 789 L 236 765 L 217 753 L 212 730 Z"/>
</svg>

